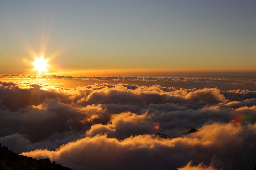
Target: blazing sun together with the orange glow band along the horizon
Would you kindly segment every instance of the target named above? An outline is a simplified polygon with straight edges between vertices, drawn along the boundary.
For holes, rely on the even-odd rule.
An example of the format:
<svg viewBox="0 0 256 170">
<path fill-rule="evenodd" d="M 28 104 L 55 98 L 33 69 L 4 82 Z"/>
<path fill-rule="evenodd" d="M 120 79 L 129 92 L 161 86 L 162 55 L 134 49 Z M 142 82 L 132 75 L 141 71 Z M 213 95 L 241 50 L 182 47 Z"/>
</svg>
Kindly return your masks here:
<svg viewBox="0 0 256 170">
<path fill-rule="evenodd" d="M 229 70 L 177 70 L 177 69 L 69 69 L 52 62 L 52 57 L 23 59 L 27 69 L 2 73 L 2 75 L 64 75 L 64 76 L 135 76 L 135 77 L 254 77 L 256 71 Z M 41 66 L 42 64 L 42 66 Z"/>
</svg>

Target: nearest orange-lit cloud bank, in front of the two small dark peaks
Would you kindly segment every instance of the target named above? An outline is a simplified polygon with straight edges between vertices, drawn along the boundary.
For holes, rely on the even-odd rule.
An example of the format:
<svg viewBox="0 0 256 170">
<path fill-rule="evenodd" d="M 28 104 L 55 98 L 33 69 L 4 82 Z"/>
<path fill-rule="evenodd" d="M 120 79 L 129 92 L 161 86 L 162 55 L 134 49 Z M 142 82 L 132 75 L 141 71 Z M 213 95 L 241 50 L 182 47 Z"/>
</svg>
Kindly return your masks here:
<svg viewBox="0 0 256 170">
<path fill-rule="evenodd" d="M 39 149 L 22 154 L 48 157 L 77 169 L 174 169 L 190 160 L 195 164 L 188 163 L 180 169 L 252 169 L 255 137 L 256 124 L 212 124 L 177 138 L 138 135 L 118 140 L 95 135 L 67 143 L 55 151 Z"/>
</svg>

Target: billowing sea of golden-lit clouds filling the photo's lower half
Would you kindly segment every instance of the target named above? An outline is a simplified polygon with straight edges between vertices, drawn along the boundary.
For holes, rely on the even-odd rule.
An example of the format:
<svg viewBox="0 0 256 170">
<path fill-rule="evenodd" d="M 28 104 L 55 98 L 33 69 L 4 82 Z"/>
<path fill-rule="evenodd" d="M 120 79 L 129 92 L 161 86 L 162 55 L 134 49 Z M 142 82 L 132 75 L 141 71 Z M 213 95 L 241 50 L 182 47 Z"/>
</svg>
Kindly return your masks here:
<svg viewBox="0 0 256 170">
<path fill-rule="evenodd" d="M 77 170 L 254 168 L 256 91 L 233 88 L 255 88 L 255 80 L 184 79 L 195 88 L 170 87 L 164 78 L 166 86 L 122 81 L 75 88 L 0 82 L 0 143 Z M 207 87 L 216 81 L 225 88 Z M 198 131 L 184 133 L 191 128 Z"/>
</svg>

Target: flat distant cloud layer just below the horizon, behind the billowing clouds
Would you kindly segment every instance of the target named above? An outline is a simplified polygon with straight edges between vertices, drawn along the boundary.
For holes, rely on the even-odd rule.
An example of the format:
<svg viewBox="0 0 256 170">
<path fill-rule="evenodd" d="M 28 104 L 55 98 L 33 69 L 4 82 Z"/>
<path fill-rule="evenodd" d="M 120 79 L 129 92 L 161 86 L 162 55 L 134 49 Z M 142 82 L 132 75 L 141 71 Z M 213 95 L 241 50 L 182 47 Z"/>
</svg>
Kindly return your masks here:
<svg viewBox="0 0 256 170">
<path fill-rule="evenodd" d="M 4 82 L 47 83 L 54 86 L 77 87 L 107 83 L 117 85 L 134 84 L 151 86 L 154 84 L 175 88 L 219 88 L 220 90 L 256 90 L 255 77 L 117 77 L 117 76 L 63 76 L 63 75 L 0 75 Z"/>
</svg>

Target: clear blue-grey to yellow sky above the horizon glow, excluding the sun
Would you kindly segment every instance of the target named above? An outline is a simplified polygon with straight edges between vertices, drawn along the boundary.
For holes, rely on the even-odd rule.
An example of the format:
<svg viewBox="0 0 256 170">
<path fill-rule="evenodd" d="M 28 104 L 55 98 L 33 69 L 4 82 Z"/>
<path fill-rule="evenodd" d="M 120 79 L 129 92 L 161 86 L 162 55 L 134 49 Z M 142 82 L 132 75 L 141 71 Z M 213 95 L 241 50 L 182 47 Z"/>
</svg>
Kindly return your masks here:
<svg viewBox="0 0 256 170">
<path fill-rule="evenodd" d="M 256 1 L 4 0 L 0 37 L 0 74 L 29 74 L 32 50 L 54 71 L 255 71 Z"/>
</svg>

